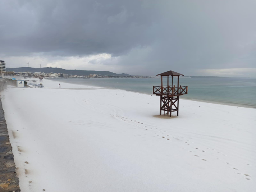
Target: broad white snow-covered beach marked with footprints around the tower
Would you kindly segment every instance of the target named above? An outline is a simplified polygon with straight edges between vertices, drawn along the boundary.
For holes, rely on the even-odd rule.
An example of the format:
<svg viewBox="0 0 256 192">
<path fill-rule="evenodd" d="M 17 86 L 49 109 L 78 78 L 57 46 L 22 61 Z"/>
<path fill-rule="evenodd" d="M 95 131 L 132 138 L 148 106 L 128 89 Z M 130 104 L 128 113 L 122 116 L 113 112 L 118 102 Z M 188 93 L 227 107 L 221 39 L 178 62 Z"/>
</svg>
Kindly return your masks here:
<svg viewBox="0 0 256 192">
<path fill-rule="evenodd" d="M 0 93 L 22 192 L 256 191 L 255 109 L 58 83 Z"/>
</svg>

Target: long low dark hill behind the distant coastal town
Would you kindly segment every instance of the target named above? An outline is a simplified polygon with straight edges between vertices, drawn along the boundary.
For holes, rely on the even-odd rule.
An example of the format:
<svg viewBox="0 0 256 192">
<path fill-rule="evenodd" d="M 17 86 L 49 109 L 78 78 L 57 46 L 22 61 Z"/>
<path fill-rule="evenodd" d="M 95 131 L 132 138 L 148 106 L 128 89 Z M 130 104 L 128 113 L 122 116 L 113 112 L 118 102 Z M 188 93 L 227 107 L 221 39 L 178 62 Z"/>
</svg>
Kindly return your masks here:
<svg viewBox="0 0 256 192">
<path fill-rule="evenodd" d="M 68 70 L 62 68 L 53 68 L 53 67 L 43 67 L 43 68 L 32 68 L 32 67 L 18 67 L 18 68 L 6 68 L 6 71 L 14 71 L 14 72 L 44 72 L 44 73 L 64 73 L 70 75 L 113 75 L 113 76 L 130 76 L 126 73 L 116 74 L 110 71 L 86 71 L 86 70 Z"/>
</svg>

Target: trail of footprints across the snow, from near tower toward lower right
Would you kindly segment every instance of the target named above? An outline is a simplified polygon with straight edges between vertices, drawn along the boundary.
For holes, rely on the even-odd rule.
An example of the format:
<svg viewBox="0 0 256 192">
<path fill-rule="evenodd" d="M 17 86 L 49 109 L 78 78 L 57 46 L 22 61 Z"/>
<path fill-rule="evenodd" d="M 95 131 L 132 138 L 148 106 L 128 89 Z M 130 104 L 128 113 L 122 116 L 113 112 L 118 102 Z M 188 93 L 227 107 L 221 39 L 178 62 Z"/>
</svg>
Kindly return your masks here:
<svg viewBox="0 0 256 192">
<path fill-rule="evenodd" d="M 157 127 L 154 127 L 154 126 L 150 126 L 150 125 L 147 125 L 146 124 L 143 124 L 142 122 L 138 122 L 136 120 L 130 120 L 129 118 L 125 118 L 124 116 L 119 116 L 119 115 L 113 115 L 114 117 L 116 117 L 117 119 L 119 120 L 122 120 L 124 122 L 127 122 L 127 123 L 133 123 L 135 126 L 137 126 L 138 128 L 143 128 L 144 130 L 148 130 L 148 129 L 152 129 L 152 130 L 156 130 L 158 131 L 158 133 L 154 133 L 156 136 L 162 136 L 162 134 L 164 134 L 164 136 L 162 136 L 163 139 L 166 139 L 166 140 L 170 140 L 170 139 L 174 139 L 174 140 L 182 140 L 184 141 L 184 143 L 188 146 L 190 146 L 190 144 L 193 144 L 192 141 L 184 138 L 184 137 L 180 137 L 180 136 L 170 136 L 170 134 L 166 134 L 165 132 L 166 131 L 162 131 L 161 129 L 157 128 Z M 160 132 L 160 134 L 159 134 Z M 185 149 L 184 147 L 182 147 L 182 149 Z M 212 151 L 216 151 L 215 149 L 210 149 L 210 148 L 206 148 L 206 150 L 200 150 L 199 148 L 197 147 L 194 147 L 194 149 L 198 150 L 198 152 L 206 152 L 206 150 L 212 150 Z M 192 150 L 189 150 L 189 152 L 192 152 Z M 222 152 L 217 152 L 217 154 L 222 154 Z M 199 157 L 199 155 L 197 154 L 194 154 L 195 157 Z M 226 156 L 226 154 L 222 154 L 222 156 Z M 216 160 L 220 160 L 220 158 L 216 158 Z M 207 161 L 206 159 L 202 158 L 202 161 Z M 226 164 L 230 165 L 229 162 L 225 162 Z M 247 165 L 250 165 L 250 164 L 247 164 Z M 239 171 L 237 168 L 234 168 L 234 167 L 231 167 L 232 169 L 236 170 L 236 171 Z M 246 180 L 250 180 L 251 179 L 251 176 L 249 174 L 242 174 L 240 172 L 236 172 L 238 175 L 243 175 L 243 176 L 246 176 L 245 179 Z"/>
</svg>

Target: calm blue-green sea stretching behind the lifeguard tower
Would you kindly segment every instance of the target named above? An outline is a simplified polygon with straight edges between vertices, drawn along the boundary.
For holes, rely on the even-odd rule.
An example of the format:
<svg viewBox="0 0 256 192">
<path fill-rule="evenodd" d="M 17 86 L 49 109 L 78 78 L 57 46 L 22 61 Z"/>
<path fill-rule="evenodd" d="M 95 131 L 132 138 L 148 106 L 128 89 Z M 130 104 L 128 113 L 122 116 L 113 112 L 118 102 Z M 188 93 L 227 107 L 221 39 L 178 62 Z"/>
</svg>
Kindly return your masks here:
<svg viewBox="0 0 256 192">
<path fill-rule="evenodd" d="M 170 78 L 171 79 L 171 78 Z M 152 94 L 152 86 L 160 86 L 161 79 L 52 79 L 58 82 L 117 88 Z M 171 83 L 170 83 L 171 84 Z M 177 79 L 174 78 L 177 86 Z M 167 80 L 164 79 L 164 85 Z M 256 78 L 180 78 L 181 86 L 188 86 L 188 94 L 181 98 L 256 108 Z"/>
</svg>

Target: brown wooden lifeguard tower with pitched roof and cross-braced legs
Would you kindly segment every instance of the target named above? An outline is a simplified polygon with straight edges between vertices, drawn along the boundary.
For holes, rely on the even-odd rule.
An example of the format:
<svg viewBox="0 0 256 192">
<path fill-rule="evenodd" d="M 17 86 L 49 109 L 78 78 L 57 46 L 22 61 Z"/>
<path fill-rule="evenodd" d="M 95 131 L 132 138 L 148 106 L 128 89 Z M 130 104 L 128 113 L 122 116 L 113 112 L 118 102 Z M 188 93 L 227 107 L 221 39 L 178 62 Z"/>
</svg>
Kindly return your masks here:
<svg viewBox="0 0 256 192">
<path fill-rule="evenodd" d="M 166 71 L 158 75 L 161 76 L 161 86 L 153 86 L 153 94 L 160 96 L 160 115 L 164 111 L 164 115 L 167 112 L 167 116 L 170 113 L 170 117 L 172 117 L 172 112 L 176 111 L 177 116 L 179 116 L 179 98 L 181 95 L 188 94 L 188 86 L 179 86 L 179 77 L 182 74 L 174 71 Z M 164 76 L 167 76 L 167 86 L 163 85 Z M 169 86 L 169 76 L 172 76 L 171 86 Z M 178 77 L 177 87 L 173 85 L 173 77 Z"/>
</svg>

